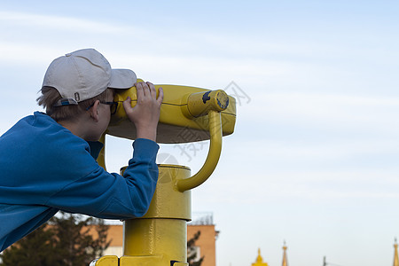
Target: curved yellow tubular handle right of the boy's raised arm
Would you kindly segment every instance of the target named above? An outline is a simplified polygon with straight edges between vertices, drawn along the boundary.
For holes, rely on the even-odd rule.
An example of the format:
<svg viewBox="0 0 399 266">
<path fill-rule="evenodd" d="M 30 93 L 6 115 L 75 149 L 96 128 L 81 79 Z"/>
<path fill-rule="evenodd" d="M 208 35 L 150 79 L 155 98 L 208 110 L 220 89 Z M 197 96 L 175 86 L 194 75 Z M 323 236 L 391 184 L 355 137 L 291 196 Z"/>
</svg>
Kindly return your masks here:
<svg viewBox="0 0 399 266">
<path fill-rule="evenodd" d="M 185 192 L 199 186 L 207 181 L 207 178 L 214 172 L 217 162 L 222 152 L 222 118 L 221 113 L 209 111 L 209 135 L 210 145 L 207 152 L 207 160 L 200 168 L 197 174 L 187 179 L 180 179 L 176 182 L 176 188 L 179 192 Z"/>
</svg>

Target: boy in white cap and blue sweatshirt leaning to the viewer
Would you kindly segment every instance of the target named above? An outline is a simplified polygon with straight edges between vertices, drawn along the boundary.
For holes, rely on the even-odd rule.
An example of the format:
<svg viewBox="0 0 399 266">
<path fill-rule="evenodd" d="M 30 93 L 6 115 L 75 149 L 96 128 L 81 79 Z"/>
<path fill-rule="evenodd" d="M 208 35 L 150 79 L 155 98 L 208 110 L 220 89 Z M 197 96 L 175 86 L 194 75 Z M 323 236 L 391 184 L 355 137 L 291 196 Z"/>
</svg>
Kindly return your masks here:
<svg viewBox="0 0 399 266">
<path fill-rule="evenodd" d="M 113 90 L 137 88 L 137 106 L 123 102 L 137 139 L 124 176 L 96 161 L 117 103 Z M 145 215 L 158 179 L 155 143 L 163 92 L 137 83 L 129 69 L 112 69 L 94 49 L 52 61 L 35 112 L 0 137 L 0 252 L 59 210 L 100 218 Z"/>
</svg>

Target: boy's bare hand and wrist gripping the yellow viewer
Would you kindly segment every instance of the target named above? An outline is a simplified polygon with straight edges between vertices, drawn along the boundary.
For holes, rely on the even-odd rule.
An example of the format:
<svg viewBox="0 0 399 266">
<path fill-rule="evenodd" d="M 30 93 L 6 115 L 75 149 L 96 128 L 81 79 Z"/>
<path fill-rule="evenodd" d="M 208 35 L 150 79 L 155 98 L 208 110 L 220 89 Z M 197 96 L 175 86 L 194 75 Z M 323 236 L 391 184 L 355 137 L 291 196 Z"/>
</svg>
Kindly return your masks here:
<svg viewBox="0 0 399 266">
<path fill-rule="evenodd" d="M 123 101 L 123 108 L 137 130 L 137 138 L 148 138 L 156 141 L 157 125 L 160 120 L 160 104 L 163 100 L 163 90 L 157 98 L 157 91 L 151 82 L 135 83 L 137 89 L 137 105 L 131 107 L 131 99 Z"/>
</svg>

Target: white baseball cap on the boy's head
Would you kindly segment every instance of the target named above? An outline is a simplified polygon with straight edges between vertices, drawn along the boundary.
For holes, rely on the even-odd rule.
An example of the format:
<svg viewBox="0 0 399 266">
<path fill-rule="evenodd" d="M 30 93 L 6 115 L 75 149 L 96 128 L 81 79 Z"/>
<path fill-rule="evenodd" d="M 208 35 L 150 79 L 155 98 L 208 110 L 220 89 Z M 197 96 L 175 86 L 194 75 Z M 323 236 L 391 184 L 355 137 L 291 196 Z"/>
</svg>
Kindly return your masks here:
<svg viewBox="0 0 399 266">
<path fill-rule="evenodd" d="M 94 49 L 82 49 L 54 59 L 43 87 L 59 90 L 62 105 L 77 105 L 101 94 L 107 88 L 129 89 L 137 82 L 130 69 L 112 69 L 108 60 Z"/>
</svg>

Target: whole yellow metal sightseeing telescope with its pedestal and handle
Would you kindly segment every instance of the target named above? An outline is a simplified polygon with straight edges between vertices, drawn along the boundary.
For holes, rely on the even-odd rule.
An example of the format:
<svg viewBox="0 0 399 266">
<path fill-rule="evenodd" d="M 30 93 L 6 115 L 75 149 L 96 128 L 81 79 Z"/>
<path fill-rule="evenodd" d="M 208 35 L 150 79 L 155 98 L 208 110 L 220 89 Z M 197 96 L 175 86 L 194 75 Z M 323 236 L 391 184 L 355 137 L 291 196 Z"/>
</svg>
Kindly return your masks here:
<svg viewBox="0 0 399 266">
<path fill-rule="evenodd" d="M 191 190 L 204 183 L 214 171 L 222 150 L 222 137 L 234 131 L 236 102 L 223 90 L 205 90 L 187 86 L 162 87 L 157 142 L 191 143 L 210 140 L 204 165 L 191 175 L 190 168 L 160 164 L 157 188 L 148 212 L 141 218 L 124 221 L 123 255 L 103 256 L 100 266 L 185 266 L 187 263 L 187 221 L 191 221 Z M 114 101 L 132 99 L 137 103 L 135 87 L 117 94 Z M 184 133 L 184 134 L 182 134 Z M 106 134 L 136 138 L 134 124 L 122 105 L 118 105 Z M 103 141 L 105 138 L 103 137 Z M 98 162 L 105 167 L 104 152 Z"/>
</svg>

